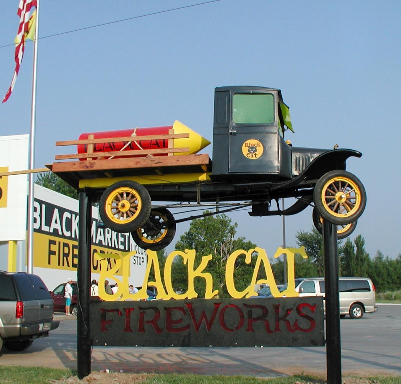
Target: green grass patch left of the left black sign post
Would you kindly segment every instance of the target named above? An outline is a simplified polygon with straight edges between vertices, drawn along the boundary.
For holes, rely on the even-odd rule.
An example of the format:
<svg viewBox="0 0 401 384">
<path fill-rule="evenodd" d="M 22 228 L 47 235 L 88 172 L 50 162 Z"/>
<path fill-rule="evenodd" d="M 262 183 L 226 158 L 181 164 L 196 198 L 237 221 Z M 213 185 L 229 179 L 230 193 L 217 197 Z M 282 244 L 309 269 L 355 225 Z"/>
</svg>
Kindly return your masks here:
<svg viewBox="0 0 401 384">
<path fill-rule="evenodd" d="M 43 367 L 0 366 L 0 384 L 43 384 L 73 376 L 75 371 Z"/>
</svg>

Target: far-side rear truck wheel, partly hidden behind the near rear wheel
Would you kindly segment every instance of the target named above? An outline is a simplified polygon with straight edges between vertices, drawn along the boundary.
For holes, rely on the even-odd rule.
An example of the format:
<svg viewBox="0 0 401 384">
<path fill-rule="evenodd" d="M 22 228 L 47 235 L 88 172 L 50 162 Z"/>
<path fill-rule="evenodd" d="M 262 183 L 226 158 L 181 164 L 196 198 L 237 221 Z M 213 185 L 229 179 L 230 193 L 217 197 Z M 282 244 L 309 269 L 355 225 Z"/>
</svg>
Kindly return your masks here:
<svg viewBox="0 0 401 384">
<path fill-rule="evenodd" d="M 166 208 L 154 208 L 148 221 L 131 232 L 131 236 L 141 248 L 158 251 L 172 242 L 175 232 L 176 223 L 171 212 Z"/>
</svg>

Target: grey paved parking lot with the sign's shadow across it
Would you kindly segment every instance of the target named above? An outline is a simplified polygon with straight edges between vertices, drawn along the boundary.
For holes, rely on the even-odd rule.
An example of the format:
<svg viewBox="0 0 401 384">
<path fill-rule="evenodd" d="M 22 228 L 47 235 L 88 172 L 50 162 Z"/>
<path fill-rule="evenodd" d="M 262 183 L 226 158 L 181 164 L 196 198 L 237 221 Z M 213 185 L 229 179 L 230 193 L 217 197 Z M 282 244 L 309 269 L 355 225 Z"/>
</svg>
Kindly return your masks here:
<svg viewBox="0 0 401 384">
<path fill-rule="evenodd" d="M 24 352 L 2 350 L 1 364 L 76 368 L 76 319 L 60 316 L 51 336 Z M 401 375 L 401 305 L 379 305 L 360 320 L 341 320 L 343 374 Z M 326 348 L 139 348 L 93 347 L 93 371 L 243 374 L 276 377 L 326 374 Z"/>
</svg>

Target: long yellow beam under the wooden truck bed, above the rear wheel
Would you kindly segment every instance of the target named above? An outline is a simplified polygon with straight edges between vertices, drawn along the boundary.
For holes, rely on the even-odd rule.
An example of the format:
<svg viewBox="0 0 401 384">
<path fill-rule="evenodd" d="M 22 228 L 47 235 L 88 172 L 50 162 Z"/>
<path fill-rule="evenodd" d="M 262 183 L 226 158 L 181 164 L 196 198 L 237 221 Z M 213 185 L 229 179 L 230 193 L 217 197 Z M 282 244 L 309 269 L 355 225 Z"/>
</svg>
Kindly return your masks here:
<svg viewBox="0 0 401 384">
<path fill-rule="evenodd" d="M 175 173 L 168 175 L 122 176 L 115 178 L 83 179 L 79 181 L 79 188 L 107 188 L 121 180 L 132 180 L 142 185 L 190 183 L 197 181 L 210 181 L 210 172 Z"/>
</svg>

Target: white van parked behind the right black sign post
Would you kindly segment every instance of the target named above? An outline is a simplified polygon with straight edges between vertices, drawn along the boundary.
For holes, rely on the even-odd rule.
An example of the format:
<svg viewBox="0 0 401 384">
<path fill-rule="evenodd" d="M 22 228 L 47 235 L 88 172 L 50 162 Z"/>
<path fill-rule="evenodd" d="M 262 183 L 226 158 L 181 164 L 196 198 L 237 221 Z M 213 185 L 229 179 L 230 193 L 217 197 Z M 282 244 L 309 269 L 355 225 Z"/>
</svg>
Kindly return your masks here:
<svg viewBox="0 0 401 384">
<path fill-rule="evenodd" d="M 285 290 L 287 285 L 280 289 Z M 295 290 L 300 296 L 325 296 L 324 278 L 295 279 Z M 360 319 L 363 313 L 377 311 L 375 286 L 367 277 L 340 277 L 338 280 L 340 292 L 340 317 L 350 315 L 352 319 Z M 325 300 L 323 308 L 325 308 Z"/>
</svg>

